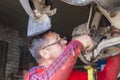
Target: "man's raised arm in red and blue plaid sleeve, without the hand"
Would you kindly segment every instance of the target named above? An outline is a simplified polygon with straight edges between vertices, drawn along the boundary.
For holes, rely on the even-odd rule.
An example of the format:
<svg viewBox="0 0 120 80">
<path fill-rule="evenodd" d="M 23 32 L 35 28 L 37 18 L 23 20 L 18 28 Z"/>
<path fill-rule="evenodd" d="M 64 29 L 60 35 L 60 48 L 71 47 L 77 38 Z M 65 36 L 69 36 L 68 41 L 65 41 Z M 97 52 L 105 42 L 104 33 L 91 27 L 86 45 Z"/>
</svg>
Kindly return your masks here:
<svg viewBox="0 0 120 80">
<path fill-rule="evenodd" d="M 79 41 L 71 41 L 65 51 L 47 68 L 49 80 L 67 80 L 81 49 L 82 44 Z"/>
</svg>

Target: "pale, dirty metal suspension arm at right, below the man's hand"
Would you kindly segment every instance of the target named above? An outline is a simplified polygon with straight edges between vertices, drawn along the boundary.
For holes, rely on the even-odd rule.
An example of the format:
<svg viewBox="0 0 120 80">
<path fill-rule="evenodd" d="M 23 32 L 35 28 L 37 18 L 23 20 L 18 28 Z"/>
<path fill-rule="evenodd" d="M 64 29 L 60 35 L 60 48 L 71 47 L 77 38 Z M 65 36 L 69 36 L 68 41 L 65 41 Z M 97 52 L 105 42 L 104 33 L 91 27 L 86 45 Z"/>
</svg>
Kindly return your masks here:
<svg viewBox="0 0 120 80">
<path fill-rule="evenodd" d="M 83 63 L 91 64 L 116 54 L 120 54 L 120 37 L 102 41 L 93 52 L 83 52 L 79 58 Z"/>
</svg>

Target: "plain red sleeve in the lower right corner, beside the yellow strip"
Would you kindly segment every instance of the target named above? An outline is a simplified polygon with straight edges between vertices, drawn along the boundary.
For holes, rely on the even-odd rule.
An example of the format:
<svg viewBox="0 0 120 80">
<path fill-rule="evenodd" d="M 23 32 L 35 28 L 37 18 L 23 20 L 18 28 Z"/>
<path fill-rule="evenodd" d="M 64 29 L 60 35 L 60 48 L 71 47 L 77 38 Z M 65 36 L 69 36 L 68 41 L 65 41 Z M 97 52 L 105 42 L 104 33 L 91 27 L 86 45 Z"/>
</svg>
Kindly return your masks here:
<svg viewBox="0 0 120 80">
<path fill-rule="evenodd" d="M 98 80 L 117 80 L 120 73 L 120 54 L 109 57 L 103 71 L 98 73 Z M 102 76 L 102 77 L 101 77 Z"/>
</svg>

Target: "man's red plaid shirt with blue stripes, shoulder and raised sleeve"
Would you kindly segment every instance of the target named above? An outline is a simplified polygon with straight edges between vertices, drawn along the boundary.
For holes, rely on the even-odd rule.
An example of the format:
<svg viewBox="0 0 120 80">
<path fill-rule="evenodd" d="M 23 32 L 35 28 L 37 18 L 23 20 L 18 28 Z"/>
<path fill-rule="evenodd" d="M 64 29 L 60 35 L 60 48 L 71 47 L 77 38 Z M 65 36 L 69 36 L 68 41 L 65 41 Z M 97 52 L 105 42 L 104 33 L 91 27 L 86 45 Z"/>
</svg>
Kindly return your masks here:
<svg viewBox="0 0 120 80">
<path fill-rule="evenodd" d="M 67 80 L 81 49 L 82 44 L 79 41 L 71 41 L 49 67 L 33 67 L 26 73 L 24 80 Z"/>
</svg>

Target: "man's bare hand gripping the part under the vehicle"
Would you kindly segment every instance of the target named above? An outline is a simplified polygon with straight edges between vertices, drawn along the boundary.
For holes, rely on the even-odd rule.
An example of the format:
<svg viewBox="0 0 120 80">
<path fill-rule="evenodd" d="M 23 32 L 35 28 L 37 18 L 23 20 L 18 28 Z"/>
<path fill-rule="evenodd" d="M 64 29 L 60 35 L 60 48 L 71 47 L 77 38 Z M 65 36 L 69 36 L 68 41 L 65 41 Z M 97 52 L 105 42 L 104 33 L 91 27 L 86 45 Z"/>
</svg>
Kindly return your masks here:
<svg viewBox="0 0 120 80">
<path fill-rule="evenodd" d="M 94 41 L 88 35 L 78 36 L 73 39 L 80 41 L 83 44 L 84 50 L 91 50 L 94 46 Z"/>
</svg>

